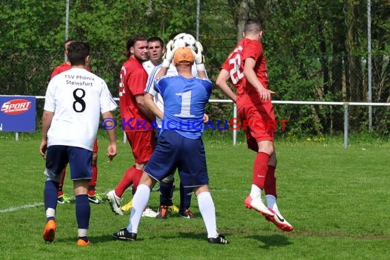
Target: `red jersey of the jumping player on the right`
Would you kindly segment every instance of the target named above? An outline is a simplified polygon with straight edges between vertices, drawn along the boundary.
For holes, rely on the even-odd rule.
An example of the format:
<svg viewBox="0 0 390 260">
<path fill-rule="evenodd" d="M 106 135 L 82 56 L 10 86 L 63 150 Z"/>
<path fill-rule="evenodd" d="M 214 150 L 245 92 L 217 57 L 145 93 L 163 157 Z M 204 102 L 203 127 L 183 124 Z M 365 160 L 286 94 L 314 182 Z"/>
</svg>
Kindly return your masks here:
<svg viewBox="0 0 390 260">
<path fill-rule="evenodd" d="M 251 57 L 255 60 L 257 79 L 268 88 L 267 64 L 263 54 L 263 45 L 258 40 L 242 39 L 230 53 L 222 68 L 229 71 L 231 81 L 237 89 L 237 106 L 247 103 L 261 103 L 259 92 L 244 77 L 245 60 Z"/>
</svg>

